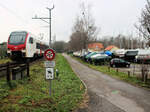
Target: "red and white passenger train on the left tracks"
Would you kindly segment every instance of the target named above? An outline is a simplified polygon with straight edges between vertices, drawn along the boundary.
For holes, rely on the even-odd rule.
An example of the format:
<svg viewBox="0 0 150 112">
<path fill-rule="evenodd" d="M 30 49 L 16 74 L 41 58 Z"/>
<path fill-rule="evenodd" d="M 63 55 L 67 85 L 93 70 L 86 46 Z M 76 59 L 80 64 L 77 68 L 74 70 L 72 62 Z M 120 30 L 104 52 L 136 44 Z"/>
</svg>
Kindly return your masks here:
<svg viewBox="0 0 150 112">
<path fill-rule="evenodd" d="M 13 31 L 7 42 L 7 55 L 13 61 L 43 57 L 48 44 L 27 31 Z"/>
</svg>

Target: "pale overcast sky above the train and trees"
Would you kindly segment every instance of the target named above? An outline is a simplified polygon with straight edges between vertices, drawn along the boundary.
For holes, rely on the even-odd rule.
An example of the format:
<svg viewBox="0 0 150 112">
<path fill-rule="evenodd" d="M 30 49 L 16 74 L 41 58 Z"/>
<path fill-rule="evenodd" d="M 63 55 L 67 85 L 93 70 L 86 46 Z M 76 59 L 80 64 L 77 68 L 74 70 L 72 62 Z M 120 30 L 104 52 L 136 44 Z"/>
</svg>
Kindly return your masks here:
<svg viewBox="0 0 150 112">
<path fill-rule="evenodd" d="M 7 41 L 9 34 L 16 30 L 26 30 L 35 35 L 44 33 L 48 40 L 48 24 L 38 17 L 48 17 L 46 7 L 55 5 L 52 11 L 52 35 L 56 40 L 68 41 L 71 29 L 80 12 L 80 3 L 92 4 L 92 15 L 97 27 L 101 28 L 99 37 L 119 33 L 135 33 L 134 24 L 138 22 L 146 0 L 1 0 L 0 1 L 0 42 Z"/>
</svg>

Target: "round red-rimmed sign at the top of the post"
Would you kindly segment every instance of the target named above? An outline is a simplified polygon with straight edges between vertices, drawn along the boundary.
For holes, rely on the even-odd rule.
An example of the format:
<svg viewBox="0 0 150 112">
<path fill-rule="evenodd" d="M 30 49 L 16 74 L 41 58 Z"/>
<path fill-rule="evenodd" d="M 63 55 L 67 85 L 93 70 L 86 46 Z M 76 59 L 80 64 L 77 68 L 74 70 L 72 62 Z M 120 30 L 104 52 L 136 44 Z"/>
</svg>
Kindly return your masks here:
<svg viewBox="0 0 150 112">
<path fill-rule="evenodd" d="M 44 52 L 44 57 L 51 61 L 55 58 L 55 52 L 53 49 L 47 49 L 45 52 Z"/>
</svg>

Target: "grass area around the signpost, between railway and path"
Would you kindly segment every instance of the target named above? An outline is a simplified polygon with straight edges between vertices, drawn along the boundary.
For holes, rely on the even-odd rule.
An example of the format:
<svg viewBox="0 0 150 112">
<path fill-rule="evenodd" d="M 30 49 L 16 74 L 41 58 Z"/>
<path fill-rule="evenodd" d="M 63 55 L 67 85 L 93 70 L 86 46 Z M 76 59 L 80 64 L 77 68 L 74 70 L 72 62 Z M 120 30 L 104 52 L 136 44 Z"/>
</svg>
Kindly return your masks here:
<svg viewBox="0 0 150 112">
<path fill-rule="evenodd" d="M 85 92 L 83 84 L 60 54 L 55 68 L 60 74 L 52 81 L 51 96 L 43 61 L 30 67 L 30 81 L 13 81 L 10 89 L 1 79 L 0 112 L 69 112 L 77 108 Z"/>
</svg>

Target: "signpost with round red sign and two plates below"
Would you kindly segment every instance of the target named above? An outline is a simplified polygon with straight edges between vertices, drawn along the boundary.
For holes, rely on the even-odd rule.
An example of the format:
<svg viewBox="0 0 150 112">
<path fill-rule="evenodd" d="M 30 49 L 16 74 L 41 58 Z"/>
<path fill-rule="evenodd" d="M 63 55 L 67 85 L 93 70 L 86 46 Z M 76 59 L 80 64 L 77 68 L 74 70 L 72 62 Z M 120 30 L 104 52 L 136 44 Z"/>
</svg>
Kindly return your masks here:
<svg viewBox="0 0 150 112">
<path fill-rule="evenodd" d="M 54 79 L 54 67 L 55 67 L 55 61 L 52 61 L 55 58 L 55 52 L 53 49 L 47 49 L 44 52 L 44 57 L 48 61 L 45 61 L 45 68 L 46 68 L 46 79 L 50 80 L 50 89 L 49 94 L 51 96 L 51 87 L 52 87 L 52 79 Z"/>
</svg>

